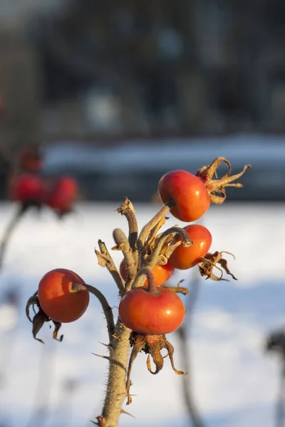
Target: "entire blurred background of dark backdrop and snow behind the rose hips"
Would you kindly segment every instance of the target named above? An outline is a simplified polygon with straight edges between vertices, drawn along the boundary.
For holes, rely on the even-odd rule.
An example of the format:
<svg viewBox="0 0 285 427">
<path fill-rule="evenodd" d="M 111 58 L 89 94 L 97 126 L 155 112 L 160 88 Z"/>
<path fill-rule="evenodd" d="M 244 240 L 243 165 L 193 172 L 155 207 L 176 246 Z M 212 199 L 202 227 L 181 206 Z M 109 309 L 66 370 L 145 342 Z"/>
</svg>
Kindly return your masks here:
<svg viewBox="0 0 285 427">
<path fill-rule="evenodd" d="M 120 425 L 283 426 L 276 360 L 284 353 L 276 359 L 264 349 L 285 321 L 284 19 L 283 0 L 1 0 L 1 427 L 88 426 L 100 413 L 107 364 L 91 352 L 105 354 L 107 334 L 97 302 L 64 325 L 62 343 L 46 325 L 42 346 L 26 300 L 46 271 L 70 268 L 100 288 L 116 314 L 117 290 L 94 255 L 98 238 L 111 248 L 113 228 L 126 231 L 114 210 L 128 196 L 142 227 L 161 206 L 162 174 L 195 173 L 218 156 L 234 173 L 252 164 L 244 189 L 229 189 L 226 203 L 198 221 L 212 233 L 213 252 L 236 255 L 229 264 L 239 281 L 205 282 L 191 270 L 171 283 L 199 284 L 184 342 L 200 424 L 168 363 L 147 375 L 140 355 L 138 396 L 126 408 L 136 419 L 122 415 Z M 28 209 L 14 230 L 11 170 L 34 144 L 42 159 L 36 176 L 73 176 L 80 198 L 62 221 L 44 206 L 40 214 Z M 185 369 L 181 337 L 171 335 L 177 368 Z"/>
</svg>

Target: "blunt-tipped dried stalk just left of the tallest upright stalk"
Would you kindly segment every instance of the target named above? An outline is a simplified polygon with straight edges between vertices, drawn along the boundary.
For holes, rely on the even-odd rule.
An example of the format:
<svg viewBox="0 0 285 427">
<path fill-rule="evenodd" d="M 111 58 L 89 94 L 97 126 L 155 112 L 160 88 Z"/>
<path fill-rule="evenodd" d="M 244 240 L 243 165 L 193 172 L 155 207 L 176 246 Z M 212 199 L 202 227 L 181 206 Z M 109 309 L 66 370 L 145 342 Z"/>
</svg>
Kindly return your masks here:
<svg viewBox="0 0 285 427">
<path fill-rule="evenodd" d="M 132 287 L 133 279 L 137 273 L 138 261 L 135 262 L 128 238 L 125 236 L 125 233 L 120 230 L 120 228 L 115 228 L 113 231 L 113 238 L 116 244 L 115 248 L 113 249 L 122 251 L 125 258 L 125 289 L 128 291 Z"/>
</svg>

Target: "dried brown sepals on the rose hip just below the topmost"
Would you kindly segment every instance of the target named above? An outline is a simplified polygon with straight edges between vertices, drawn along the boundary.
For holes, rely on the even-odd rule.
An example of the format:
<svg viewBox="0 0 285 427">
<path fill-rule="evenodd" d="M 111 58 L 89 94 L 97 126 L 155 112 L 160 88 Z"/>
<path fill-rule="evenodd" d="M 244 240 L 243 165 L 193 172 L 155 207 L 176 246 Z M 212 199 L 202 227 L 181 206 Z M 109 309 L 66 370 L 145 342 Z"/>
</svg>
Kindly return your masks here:
<svg viewBox="0 0 285 427">
<path fill-rule="evenodd" d="M 231 275 L 234 280 L 237 280 L 237 278 L 230 272 L 229 268 L 227 267 L 227 260 L 222 258 L 223 253 L 229 253 L 229 252 L 216 251 L 214 253 L 207 253 L 207 255 L 201 258 L 201 261 L 198 263 L 199 272 L 200 272 L 200 275 L 207 276 L 206 280 L 207 279 L 225 280 L 229 282 L 229 280 L 222 278 L 223 276 L 222 268 L 228 275 Z M 232 255 L 232 253 L 229 253 L 229 255 Z M 232 256 L 234 257 L 234 255 Z M 222 268 L 219 268 L 217 264 L 221 265 Z M 214 268 L 217 268 L 221 272 L 221 275 L 219 277 L 213 273 Z"/>
</svg>

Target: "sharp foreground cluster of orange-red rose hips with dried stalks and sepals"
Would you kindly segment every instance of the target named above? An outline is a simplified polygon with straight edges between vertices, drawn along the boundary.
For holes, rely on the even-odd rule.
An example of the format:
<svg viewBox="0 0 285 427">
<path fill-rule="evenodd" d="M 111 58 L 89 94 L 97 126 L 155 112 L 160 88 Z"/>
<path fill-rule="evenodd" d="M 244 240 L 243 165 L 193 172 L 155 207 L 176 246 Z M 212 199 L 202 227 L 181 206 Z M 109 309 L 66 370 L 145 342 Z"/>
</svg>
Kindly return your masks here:
<svg viewBox="0 0 285 427">
<path fill-rule="evenodd" d="M 216 171 L 222 162 L 227 164 L 229 171 L 218 179 Z M 212 236 L 206 227 L 188 224 L 184 228 L 173 226 L 162 233 L 158 231 L 164 225 L 169 212 L 180 221 L 191 223 L 201 218 L 211 203 L 221 204 L 226 198 L 226 186 L 242 186 L 233 181 L 242 176 L 247 167 L 249 165 L 239 174 L 231 176 L 231 167 L 227 159 L 218 157 L 209 166 L 199 169 L 196 175 L 182 170 L 168 172 L 162 176 L 158 184 L 158 193 L 164 206 L 142 228 L 140 234 L 135 210 L 126 199 L 118 212 L 125 215 L 128 220 L 129 236 L 127 238 L 118 228 L 113 231 L 115 240 L 113 249 L 122 251 L 124 256 L 120 268 L 115 267 L 105 243 L 98 241 L 100 252 L 96 251 L 99 264 L 108 268 L 118 285 L 121 299 L 116 325 L 113 312 L 100 291 L 86 285 L 83 279 L 71 270 L 57 268 L 43 276 L 38 291 L 28 300 L 27 314 L 30 305 L 38 307 L 38 312 L 33 318 L 33 336 L 36 337 L 44 322 L 52 320 L 56 326 L 54 332 L 56 338 L 62 322 L 73 322 L 83 315 L 88 307 L 88 292 L 92 292 L 103 306 L 108 323 L 110 358 L 113 362 L 117 360 L 118 366 L 122 362 L 119 352 L 116 353 L 116 346 L 124 339 L 125 331 L 128 331 L 130 347 L 133 347 L 126 374 L 125 391 L 128 404 L 131 402 L 130 369 L 138 352 L 148 354 L 147 369 L 152 374 L 157 374 L 162 369 L 164 359 L 160 352 L 165 348 L 175 372 L 185 374 L 175 369 L 174 349 L 165 334 L 174 332 L 182 325 L 185 306 L 177 293 L 186 294 L 187 288 L 181 288 L 180 285 L 166 286 L 165 282 L 175 269 L 186 270 L 195 265 L 199 266 L 201 275 L 214 280 L 219 280 L 212 273 L 217 263 L 226 273 L 232 274 L 227 268 L 226 260 L 222 258 L 222 253 L 218 251 L 209 253 Z M 150 355 L 155 363 L 155 371 L 152 371 L 150 366 Z M 107 412 L 104 415 L 103 411 L 103 416 L 98 417 L 98 425 L 106 425 Z M 105 417 L 104 420 L 102 417 Z"/>
</svg>

